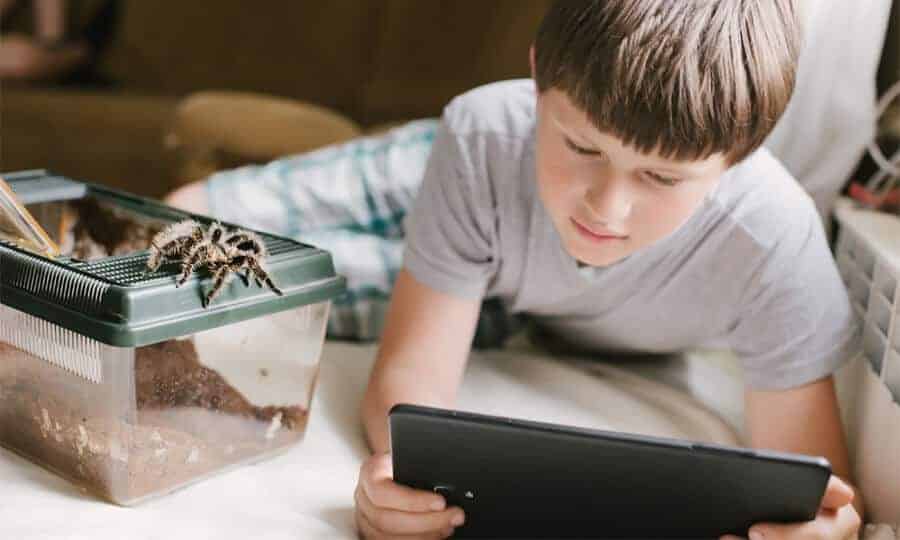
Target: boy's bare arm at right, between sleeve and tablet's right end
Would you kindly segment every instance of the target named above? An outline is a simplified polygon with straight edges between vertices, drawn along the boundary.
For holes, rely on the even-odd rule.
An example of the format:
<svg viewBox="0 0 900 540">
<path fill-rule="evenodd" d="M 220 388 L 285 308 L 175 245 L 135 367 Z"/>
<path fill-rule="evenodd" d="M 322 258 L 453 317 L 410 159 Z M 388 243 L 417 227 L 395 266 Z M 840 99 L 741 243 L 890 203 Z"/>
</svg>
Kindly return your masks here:
<svg viewBox="0 0 900 540">
<path fill-rule="evenodd" d="M 852 485 L 833 377 L 789 390 L 748 389 L 745 422 L 752 447 L 823 456 L 832 472 Z M 862 517 L 862 498 L 855 491 L 853 506 Z"/>
</svg>

